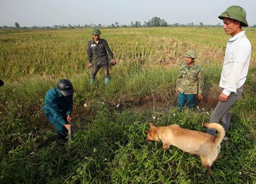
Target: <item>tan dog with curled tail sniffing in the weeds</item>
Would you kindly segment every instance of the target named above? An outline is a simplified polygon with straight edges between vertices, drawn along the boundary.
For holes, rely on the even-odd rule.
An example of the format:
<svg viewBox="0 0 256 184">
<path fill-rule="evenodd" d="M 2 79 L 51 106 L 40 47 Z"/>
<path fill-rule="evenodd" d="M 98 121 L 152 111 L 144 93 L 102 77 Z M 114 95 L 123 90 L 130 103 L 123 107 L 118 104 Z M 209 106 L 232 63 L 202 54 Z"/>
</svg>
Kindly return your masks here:
<svg viewBox="0 0 256 184">
<path fill-rule="evenodd" d="M 150 123 L 151 129 L 145 130 L 146 141 L 162 141 L 165 150 L 173 145 L 190 154 L 199 155 L 204 167 L 212 174 L 210 167 L 221 157 L 220 144 L 225 136 L 225 130 L 218 123 L 205 123 L 204 126 L 217 129 L 219 135 L 215 137 L 208 133 L 184 129 L 179 125 L 156 127 Z"/>
</svg>

